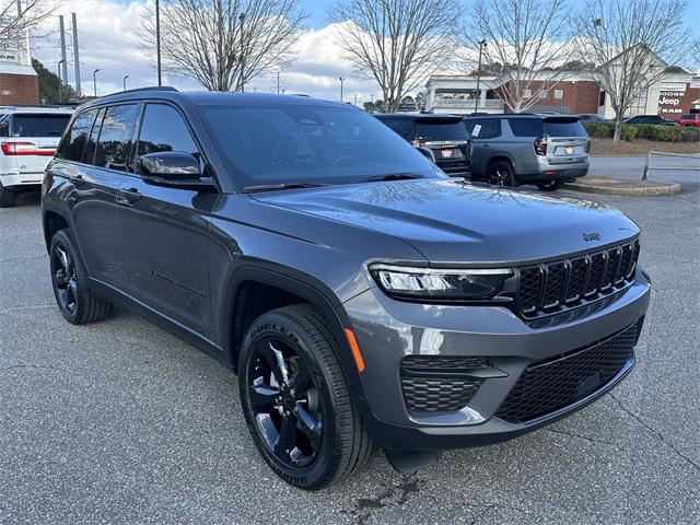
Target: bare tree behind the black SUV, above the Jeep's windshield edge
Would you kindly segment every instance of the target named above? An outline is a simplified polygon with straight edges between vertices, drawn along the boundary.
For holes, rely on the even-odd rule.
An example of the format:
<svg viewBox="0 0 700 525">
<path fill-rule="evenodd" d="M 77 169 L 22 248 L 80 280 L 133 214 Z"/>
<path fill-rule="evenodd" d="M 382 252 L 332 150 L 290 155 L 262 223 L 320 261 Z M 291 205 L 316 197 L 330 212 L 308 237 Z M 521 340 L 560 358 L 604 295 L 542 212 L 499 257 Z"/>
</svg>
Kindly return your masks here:
<svg viewBox="0 0 700 525">
<path fill-rule="evenodd" d="M 330 20 L 346 58 L 395 112 L 452 58 L 459 11 L 455 0 L 340 0 Z"/>
</svg>

